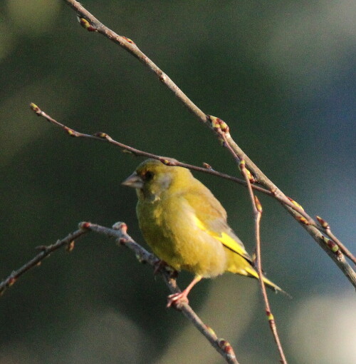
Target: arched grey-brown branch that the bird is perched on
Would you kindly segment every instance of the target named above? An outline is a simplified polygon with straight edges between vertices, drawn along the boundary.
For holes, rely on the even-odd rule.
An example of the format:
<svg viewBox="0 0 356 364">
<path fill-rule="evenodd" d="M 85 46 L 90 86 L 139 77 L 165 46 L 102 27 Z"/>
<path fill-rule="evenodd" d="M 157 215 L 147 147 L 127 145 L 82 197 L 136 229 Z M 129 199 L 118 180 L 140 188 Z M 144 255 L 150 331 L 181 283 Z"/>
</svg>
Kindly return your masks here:
<svg viewBox="0 0 356 364">
<path fill-rule="evenodd" d="M 77 231 L 68 234 L 66 238 L 57 241 L 51 246 L 37 247 L 41 250 L 41 253 L 38 253 L 34 258 L 31 259 L 31 261 L 28 261 L 17 271 L 13 271 L 6 279 L 4 279 L 0 283 L 0 295 L 4 293 L 6 288 L 14 285 L 14 283 L 16 283 L 16 280 L 18 280 L 18 278 L 23 275 L 23 273 L 26 273 L 31 268 L 39 266 L 43 259 L 48 257 L 51 253 L 53 253 L 53 251 L 56 251 L 63 246 L 67 247 L 67 251 L 72 251 L 74 248 L 75 240 L 90 232 L 99 233 L 101 235 L 107 236 L 108 238 L 115 238 L 120 246 L 126 246 L 131 251 L 133 251 L 135 253 L 135 256 L 137 257 L 137 260 L 140 261 L 140 263 L 148 263 L 150 264 L 150 266 L 155 267 L 155 272 L 160 273 L 164 280 L 164 283 L 166 283 L 171 293 L 180 292 L 179 287 L 177 286 L 176 279 L 173 278 L 172 268 L 169 268 L 167 266 L 159 266 L 159 269 L 157 269 L 159 259 L 152 253 L 146 251 L 145 248 L 142 248 L 142 246 L 137 244 L 131 238 L 131 236 L 127 234 L 127 225 L 125 223 L 115 223 L 112 228 L 107 228 L 105 226 L 83 222 L 79 224 L 79 229 Z M 180 310 L 182 314 L 193 323 L 193 325 L 200 331 L 200 333 L 205 336 L 209 343 L 211 343 L 216 351 L 225 359 L 226 363 L 239 364 L 239 362 L 236 360 L 236 355 L 232 346 L 226 340 L 218 338 L 216 336 L 216 333 L 214 333 L 214 330 L 209 328 L 209 326 L 205 325 L 203 321 L 199 318 L 197 313 L 195 313 L 194 310 L 192 310 L 192 308 L 187 303 L 175 305 L 174 308 Z"/>
</svg>

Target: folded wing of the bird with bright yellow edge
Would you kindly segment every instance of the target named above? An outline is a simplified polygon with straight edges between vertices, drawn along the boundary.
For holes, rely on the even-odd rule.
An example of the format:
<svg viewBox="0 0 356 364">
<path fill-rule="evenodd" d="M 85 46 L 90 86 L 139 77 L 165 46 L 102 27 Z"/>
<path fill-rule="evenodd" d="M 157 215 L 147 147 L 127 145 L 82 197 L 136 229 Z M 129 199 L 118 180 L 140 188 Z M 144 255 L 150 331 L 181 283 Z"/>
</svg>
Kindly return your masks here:
<svg viewBox="0 0 356 364">
<path fill-rule="evenodd" d="M 204 186 L 204 185 L 202 185 Z M 246 252 L 244 244 L 236 236 L 226 221 L 226 211 L 215 196 L 204 186 L 204 190 L 189 191 L 184 194 L 195 212 L 197 226 L 220 241 L 226 248 L 242 256 L 251 263 L 251 257 Z"/>
</svg>

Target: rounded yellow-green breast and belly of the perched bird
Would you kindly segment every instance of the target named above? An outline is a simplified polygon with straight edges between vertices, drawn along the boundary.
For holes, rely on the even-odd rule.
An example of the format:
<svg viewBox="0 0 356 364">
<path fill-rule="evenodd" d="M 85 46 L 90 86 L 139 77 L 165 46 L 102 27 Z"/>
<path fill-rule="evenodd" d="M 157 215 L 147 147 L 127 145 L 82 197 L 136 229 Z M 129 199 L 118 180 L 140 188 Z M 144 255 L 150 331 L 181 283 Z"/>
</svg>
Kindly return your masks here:
<svg viewBox="0 0 356 364">
<path fill-rule="evenodd" d="M 206 278 L 224 273 L 227 257 L 223 244 L 199 227 L 192 208 L 179 199 L 174 201 L 137 205 L 140 229 L 152 251 L 177 271 Z"/>
</svg>

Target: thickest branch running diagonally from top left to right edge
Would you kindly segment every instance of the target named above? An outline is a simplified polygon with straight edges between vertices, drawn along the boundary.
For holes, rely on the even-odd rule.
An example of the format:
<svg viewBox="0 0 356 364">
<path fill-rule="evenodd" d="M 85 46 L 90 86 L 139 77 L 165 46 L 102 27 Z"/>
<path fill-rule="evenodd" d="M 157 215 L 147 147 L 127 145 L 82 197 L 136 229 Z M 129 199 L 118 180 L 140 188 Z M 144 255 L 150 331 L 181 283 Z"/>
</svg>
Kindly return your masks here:
<svg viewBox="0 0 356 364">
<path fill-rule="evenodd" d="M 239 160 L 246 161 L 246 168 L 251 171 L 253 178 L 256 183 L 261 184 L 261 186 L 271 191 L 273 195 L 281 201 L 283 207 L 286 208 L 288 213 L 295 218 L 298 223 L 312 236 L 312 238 L 318 243 L 318 245 L 325 251 L 325 253 L 330 256 L 330 258 L 334 261 L 334 263 L 340 268 L 342 273 L 350 280 L 350 283 L 356 288 L 356 273 L 347 263 L 344 254 L 342 253 L 342 248 L 335 243 L 335 241 L 325 238 L 325 236 L 320 233 L 319 226 L 312 218 L 307 218 L 300 211 L 296 211 L 295 208 L 290 206 L 290 201 L 288 197 L 270 180 L 268 177 L 256 166 L 253 161 L 251 161 L 246 153 L 236 144 L 233 138 L 231 138 L 231 134 L 229 133 L 229 126 L 222 121 L 220 118 L 216 118 L 215 116 L 210 116 L 201 111 L 201 109 L 195 105 L 185 93 L 179 89 L 179 87 L 174 84 L 172 79 L 164 74 L 164 72 L 159 69 L 159 67 L 152 62 L 140 49 L 136 46 L 135 42 L 131 39 L 128 39 L 125 36 L 119 36 L 114 31 L 109 29 L 104 24 L 100 23 L 98 19 L 90 14 L 88 10 L 86 10 L 78 1 L 75 0 L 64 0 L 72 9 L 76 11 L 78 14 L 78 20 L 80 24 L 87 29 L 88 31 L 95 31 L 100 34 L 103 34 L 108 39 L 113 41 L 118 46 L 121 46 L 123 49 L 128 51 L 132 56 L 135 56 L 142 64 L 144 64 L 150 71 L 152 71 L 159 79 L 159 81 L 164 84 L 170 91 L 174 93 L 175 96 L 183 103 L 187 109 L 196 116 L 199 121 L 204 123 L 204 125 L 211 128 L 214 133 L 221 138 L 221 133 L 225 134 L 226 142 L 224 146 L 229 146 L 230 151 L 234 151 L 234 155 L 239 157 Z M 325 240 L 326 239 L 326 240 Z M 352 254 L 351 254 L 352 256 Z M 352 256 L 353 257 L 353 256 Z M 355 258 L 353 258 L 355 263 Z"/>
</svg>

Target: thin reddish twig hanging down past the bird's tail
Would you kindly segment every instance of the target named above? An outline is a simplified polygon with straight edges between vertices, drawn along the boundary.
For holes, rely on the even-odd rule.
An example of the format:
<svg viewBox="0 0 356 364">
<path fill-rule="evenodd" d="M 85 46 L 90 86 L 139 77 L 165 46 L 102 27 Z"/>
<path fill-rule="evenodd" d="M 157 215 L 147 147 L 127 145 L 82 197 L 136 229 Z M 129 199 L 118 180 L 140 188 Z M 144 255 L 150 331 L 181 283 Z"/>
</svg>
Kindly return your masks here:
<svg viewBox="0 0 356 364">
<path fill-rule="evenodd" d="M 281 363 L 287 364 L 286 355 L 284 355 L 282 344 L 281 344 L 281 339 L 279 338 L 279 335 L 278 335 L 276 321 L 274 320 L 274 316 L 273 316 L 272 310 L 271 310 L 271 305 L 269 304 L 268 295 L 266 292 L 266 286 L 265 286 L 265 283 L 263 282 L 263 271 L 262 271 L 262 260 L 261 260 L 261 233 L 260 233 L 262 206 L 261 206 L 260 201 L 258 201 L 257 196 L 255 196 L 253 194 L 251 181 L 250 181 L 250 173 L 246 169 L 245 161 L 244 160 L 240 161 L 239 166 L 240 166 L 241 173 L 243 174 L 243 176 L 246 179 L 248 193 L 251 198 L 251 203 L 252 203 L 252 208 L 253 208 L 253 217 L 254 217 L 254 221 L 255 221 L 257 273 L 258 273 L 259 283 L 261 286 L 263 302 L 265 304 L 265 310 L 266 310 L 266 315 L 268 318 L 268 324 L 271 328 L 273 338 L 276 342 L 278 353 L 281 358 Z"/>
</svg>

